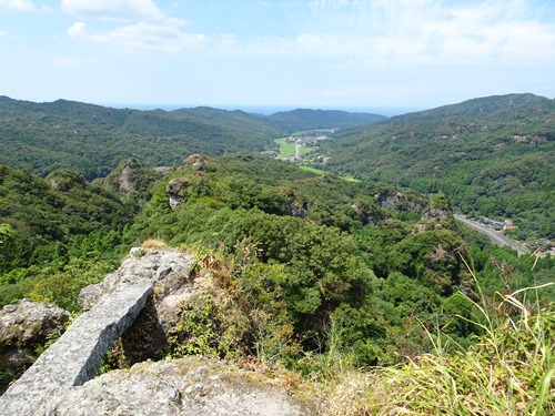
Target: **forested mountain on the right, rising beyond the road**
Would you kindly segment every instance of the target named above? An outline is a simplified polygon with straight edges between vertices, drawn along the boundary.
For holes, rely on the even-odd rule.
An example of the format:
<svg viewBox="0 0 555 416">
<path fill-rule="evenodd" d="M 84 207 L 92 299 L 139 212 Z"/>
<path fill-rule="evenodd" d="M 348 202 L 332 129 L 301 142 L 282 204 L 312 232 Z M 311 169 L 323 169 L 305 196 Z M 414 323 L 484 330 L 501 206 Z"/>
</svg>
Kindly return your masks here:
<svg viewBox="0 0 555 416">
<path fill-rule="evenodd" d="M 337 132 L 322 169 L 443 191 L 466 214 L 513 219 L 519 237 L 553 240 L 554 122 L 554 100 L 474 99 Z"/>
</svg>

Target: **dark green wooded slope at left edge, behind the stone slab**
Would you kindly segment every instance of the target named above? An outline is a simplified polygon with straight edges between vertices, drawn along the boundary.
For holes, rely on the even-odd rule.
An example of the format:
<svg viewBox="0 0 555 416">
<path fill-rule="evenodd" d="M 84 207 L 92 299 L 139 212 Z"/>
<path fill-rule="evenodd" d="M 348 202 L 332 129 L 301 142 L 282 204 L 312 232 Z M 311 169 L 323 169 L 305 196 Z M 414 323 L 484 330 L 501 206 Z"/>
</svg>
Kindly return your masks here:
<svg viewBox="0 0 555 416">
<path fill-rule="evenodd" d="M 75 172 L 46 179 L 0 165 L 0 304 L 23 296 L 77 310 L 77 295 L 119 264 L 139 206 Z"/>
</svg>

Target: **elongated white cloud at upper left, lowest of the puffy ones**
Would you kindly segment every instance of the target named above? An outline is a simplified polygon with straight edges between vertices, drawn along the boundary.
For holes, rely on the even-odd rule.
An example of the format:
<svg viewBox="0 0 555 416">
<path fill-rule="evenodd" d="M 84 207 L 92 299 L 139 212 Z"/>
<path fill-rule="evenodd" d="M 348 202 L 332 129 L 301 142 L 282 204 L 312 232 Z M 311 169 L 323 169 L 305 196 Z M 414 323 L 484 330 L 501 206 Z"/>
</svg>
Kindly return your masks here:
<svg viewBox="0 0 555 416">
<path fill-rule="evenodd" d="M 99 33 L 89 33 L 84 22 L 77 22 L 68 29 L 68 35 L 73 39 L 112 43 L 127 48 L 158 50 L 168 53 L 202 49 L 206 45 L 206 38 L 203 34 L 184 33 L 172 26 L 145 22 L 128 24 Z"/>
</svg>

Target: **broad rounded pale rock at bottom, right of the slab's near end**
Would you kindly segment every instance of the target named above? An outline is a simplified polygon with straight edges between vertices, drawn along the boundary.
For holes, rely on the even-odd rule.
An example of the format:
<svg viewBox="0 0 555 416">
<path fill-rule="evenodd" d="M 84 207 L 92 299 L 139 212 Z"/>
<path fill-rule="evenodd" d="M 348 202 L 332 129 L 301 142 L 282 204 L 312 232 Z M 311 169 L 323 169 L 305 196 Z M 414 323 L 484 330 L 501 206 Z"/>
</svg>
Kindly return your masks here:
<svg viewBox="0 0 555 416">
<path fill-rule="evenodd" d="M 58 393 L 47 415 L 315 415 L 314 402 L 300 400 L 263 376 L 222 362 L 190 356 L 144 362 L 103 374 Z"/>
</svg>

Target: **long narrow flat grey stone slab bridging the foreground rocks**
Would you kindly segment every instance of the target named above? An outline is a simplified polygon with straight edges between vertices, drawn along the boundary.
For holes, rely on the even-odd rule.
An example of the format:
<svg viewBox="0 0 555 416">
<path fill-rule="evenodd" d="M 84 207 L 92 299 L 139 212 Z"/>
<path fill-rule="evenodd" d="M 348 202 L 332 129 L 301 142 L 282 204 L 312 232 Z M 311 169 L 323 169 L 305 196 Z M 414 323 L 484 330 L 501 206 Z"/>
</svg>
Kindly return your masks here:
<svg viewBox="0 0 555 416">
<path fill-rule="evenodd" d="M 34 415 L 54 393 L 91 379 L 102 357 L 134 321 L 151 292 L 149 284 L 119 287 L 79 316 L 0 397 L 0 414 Z"/>
</svg>

